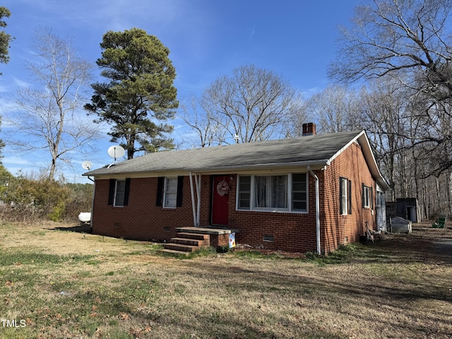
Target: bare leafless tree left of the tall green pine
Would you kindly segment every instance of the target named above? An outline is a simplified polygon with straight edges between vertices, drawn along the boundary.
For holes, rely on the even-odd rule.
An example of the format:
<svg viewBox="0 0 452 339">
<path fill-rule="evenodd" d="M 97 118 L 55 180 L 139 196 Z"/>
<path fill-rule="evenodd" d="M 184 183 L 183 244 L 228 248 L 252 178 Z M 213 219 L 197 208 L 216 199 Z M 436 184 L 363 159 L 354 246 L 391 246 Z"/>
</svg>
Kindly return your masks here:
<svg viewBox="0 0 452 339">
<path fill-rule="evenodd" d="M 54 179 L 59 162 L 69 163 L 74 151 L 90 148 L 98 136 L 98 127 L 87 124 L 85 114 L 78 112 L 92 66 L 78 57 L 70 41 L 48 29 L 35 33 L 34 47 L 35 60 L 28 70 L 35 86 L 18 90 L 16 109 L 7 113 L 16 127 L 8 143 L 23 152 L 47 150 L 48 177 Z"/>
</svg>

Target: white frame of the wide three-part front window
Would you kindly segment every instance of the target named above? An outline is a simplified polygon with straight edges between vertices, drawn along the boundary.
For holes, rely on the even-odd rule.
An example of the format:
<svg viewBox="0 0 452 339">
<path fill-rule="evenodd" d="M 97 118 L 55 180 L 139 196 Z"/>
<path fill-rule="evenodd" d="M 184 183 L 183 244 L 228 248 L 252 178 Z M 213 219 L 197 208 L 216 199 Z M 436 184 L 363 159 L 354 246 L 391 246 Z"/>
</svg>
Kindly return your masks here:
<svg viewBox="0 0 452 339">
<path fill-rule="evenodd" d="M 298 210 L 293 208 L 292 206 L 292 174 L 304 174 L 306 176 L 306 209 L 305 210 Z M 287 208 L 272 208 L 272 207 L 256 207 L 256 177 L 275 177 L 275 176 L 285 176 L 286 179 L 286 201 L 287 201 Z M 237 194 L 236 194 L 236 210 L 255 210 L 255 211 L 262 211 L 262 212 L 281 212 L 281 213 L 302 213 L 307 214 L 309 213 L 309 177 L 307 176 L 307 172 L 290 172 L 290 173 L 262 173 L 262 174 L 239 174 L 237 180 Z M 250 191 L 241 192 L 240 191 L 240 178 L 241 177 L 250 177 L 251 180 L 251 187 Z M 240 203 L 240 197 L 242 193 L 249 194 L 249 207 L 243 208 L 239 206 Z"/>
</svg>

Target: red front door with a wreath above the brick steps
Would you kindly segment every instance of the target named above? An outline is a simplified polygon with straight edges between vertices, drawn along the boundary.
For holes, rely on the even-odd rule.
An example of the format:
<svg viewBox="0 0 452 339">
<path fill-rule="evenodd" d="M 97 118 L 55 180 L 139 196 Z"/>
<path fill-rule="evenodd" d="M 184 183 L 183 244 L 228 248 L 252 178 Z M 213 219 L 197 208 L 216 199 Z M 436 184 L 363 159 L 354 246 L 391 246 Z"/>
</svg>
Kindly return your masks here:
<svg viewBox="0 0 452 339">
<path fill-rule="evenodd" d="M 229 177 L 218 175 L 213 177 L 212 192 L 212 224 L 227 225 L 229 208 Z"/>
</svg>

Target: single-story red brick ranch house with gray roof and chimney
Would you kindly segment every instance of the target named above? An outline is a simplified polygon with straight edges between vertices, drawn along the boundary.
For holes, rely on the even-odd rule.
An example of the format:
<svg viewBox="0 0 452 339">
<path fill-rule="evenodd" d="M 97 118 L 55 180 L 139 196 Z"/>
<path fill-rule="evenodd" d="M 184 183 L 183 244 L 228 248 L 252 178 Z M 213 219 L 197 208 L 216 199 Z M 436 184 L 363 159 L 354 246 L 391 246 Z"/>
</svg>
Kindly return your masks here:
<svg viewBox="0 0 452 339">
<path fill-rule="evenodd" d="M 94 234 L 328 254 L 386 230 L 381 176 L 365 131 L 157 152 L 86 172 Z M 201 234 L 193 237 L 187 234 Z M 207 234 L 207 235 L 206 235 Z M 193 238 L 184 242 L 181 238 Z M 179 240 L 177 240 L 179 239 Z"/>
</svg>

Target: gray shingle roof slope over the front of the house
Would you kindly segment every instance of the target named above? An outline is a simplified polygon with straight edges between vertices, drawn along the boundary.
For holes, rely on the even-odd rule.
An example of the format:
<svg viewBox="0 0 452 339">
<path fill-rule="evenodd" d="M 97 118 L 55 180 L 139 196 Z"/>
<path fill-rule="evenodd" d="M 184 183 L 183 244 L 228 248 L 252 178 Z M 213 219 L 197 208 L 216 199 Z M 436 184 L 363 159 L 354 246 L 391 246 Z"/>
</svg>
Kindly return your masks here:
<svg viewBox="0 0 452 339">
<path fill-rule="evenodd" d="M 162 172 L 208 172 L 246 167 L 326 165 L 362 131 L 325 133 L 276 141 L 157 152 L 86 172 L 85 176 Z"/>
</svg>

